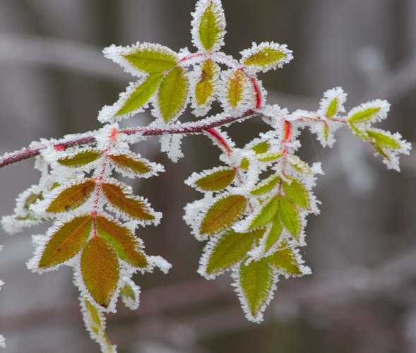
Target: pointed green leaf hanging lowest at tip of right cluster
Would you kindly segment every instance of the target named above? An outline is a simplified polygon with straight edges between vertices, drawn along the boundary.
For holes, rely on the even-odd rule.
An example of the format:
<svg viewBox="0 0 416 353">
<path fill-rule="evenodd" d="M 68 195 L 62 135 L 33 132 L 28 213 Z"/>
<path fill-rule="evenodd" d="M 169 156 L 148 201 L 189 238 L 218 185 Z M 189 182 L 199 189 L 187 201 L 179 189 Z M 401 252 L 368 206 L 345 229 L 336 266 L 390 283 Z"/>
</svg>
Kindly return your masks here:
<svg viewBox="0 0 416 353">
<path fill-rule="evenodd" d="M 265 259 L 251 261 L 239 268 L 239 282 L 249 313 L 254 320 L 261 319 L 261 311 L 268 304 L 273 290 L 274 275 Z"/>
</svg>

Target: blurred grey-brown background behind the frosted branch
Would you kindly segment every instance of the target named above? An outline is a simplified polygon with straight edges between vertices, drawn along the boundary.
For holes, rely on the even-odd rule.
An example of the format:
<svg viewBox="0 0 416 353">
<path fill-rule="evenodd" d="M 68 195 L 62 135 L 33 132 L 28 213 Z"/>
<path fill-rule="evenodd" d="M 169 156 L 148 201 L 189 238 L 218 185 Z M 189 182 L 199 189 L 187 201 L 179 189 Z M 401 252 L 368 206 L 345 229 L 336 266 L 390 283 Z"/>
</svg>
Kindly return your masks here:
<svg viewBox="0 0 416 353">
<path fill-rule="evenodd" d="M 269 102 L 316 109 L 321 94 L 341 85 L 347 108 L 374 98 L 392 103 L 384 128 L 415 141 L 415 0 L 223 1 L 225 51 L 252 41 L 287 43 L 295 59 L 264 74 Z M 191 47 L 194 0 L 1 0 L 0 153 L 42 137 L 99 126 L 97 111 L 112 104 L 131 80 L 102 58 L 102 47 L 160 42 Z M 148 119 L 144 114 L 142 121 Z M 263 131 L 247 121 L 230 130 L 239 143 Z M 138 193 L 164 212 L 160 227 L 140 232 L 148 253 L 174 264 L 170 275 L 138 276 L 138 311 L 120 306 L 109 316 L 119 352 L 133 353 L 411 353 L 416 352 L 415 157 L 402 173 L 388 171 L 369 146 L 348 131 L 332 150 L 304 133 L 302 157 L 321 161 L 316 194 L 321 215 L 310 217 L 302 253 L 314 274 L 280 282 L 266 321 L 245 321 L 229 276 L 215 282 L 196 274 L 203 244 L 191 237 L 182 207 L 199 197 L 182 181 L 218 164 L 218 151 L 201 137 L 184 140 L 186 157 L 173 164 L 158 141 L 138 151 L 165 164 L 161 177 Z M 206 152 L 206 151 L 210 152 Z M 33 160 L 0 171 L 0 214 L 37 181 Z M 6 352 L 97 352 L 83 329 L 71 269 L 36 275 L 25 268 L 29 229 L 0 230 L 0 333 Z"/>
</svg>

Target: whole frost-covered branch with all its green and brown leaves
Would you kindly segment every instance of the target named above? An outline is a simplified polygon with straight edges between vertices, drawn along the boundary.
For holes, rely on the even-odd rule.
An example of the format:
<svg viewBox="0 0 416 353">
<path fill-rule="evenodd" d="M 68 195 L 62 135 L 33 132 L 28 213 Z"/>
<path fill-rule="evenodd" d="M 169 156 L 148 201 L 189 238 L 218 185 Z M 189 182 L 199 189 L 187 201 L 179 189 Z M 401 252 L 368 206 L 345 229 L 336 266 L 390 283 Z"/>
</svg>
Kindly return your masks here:
<svg viewBox="0 0 416 353">
<path fill-rule="evenodd" d="M 105 57 L 135 78 L 117 102 L 101 109 L 98 119 L 105 126 L 41 140 L 0 158 L 6 165 L 29 157 L 28 151 L 37 155 L 40 181 L 18 196 L 14 214 L 1 224 L 13 234 L 52 222 L 46 234 L 33 237 L 36 249 L 28 267 L 37 273 L 73 268 L 85 327 L 102 352 L 116 352 L 105 313 L 115 311 L 119 297 L 129 309 L 138 308 L 140 288 L 133 274 L 170 269 L 164 258 L 149 256 L 136 236 L 141 227 L 158 225 L 162 215 L 117 179 L 155 177 L 164 168 L 134 153 L 131 144 L 160 136 L 160 149 L 173 162 L 184 157 L 185 134 L 203 134 L 220 148 L 220 165 L 186 179 L 203 196 L 186 205 L 184 220 L 196 239 L 206 241 L 198 273 L 212 280 L 230 272 L 246 318 L 256 323 L 263 320 L 279 280 L 311 273 L 302 248 L 307 219 L 319 213 L 313 188 L 323 172 L 319 162 L 309 164 L 297 155 L 302 130 L 309 128 L 331 148 L 335 131 L 347 126 L 391 169 L 399 169 L 400 153 L 410 152 L 399 133 L 374 126 L 388 114 L 384 100 L 345 113 L 347 94 L 337 87 L 323 93 L 316 111 L 289 112 L 267 104 L 258 75 L 289 63 L 292 51 L 285 44 L 253 43 L 234 59 L 220 52 L 225 44 L 221 1 L 197 1 L 192 16 L 196 52 L 144 42 L 104 49 Z M 183 123 L 189 104 L 193 120 L 186 116 Z M 213 105 L 222 112 L 206 116 Z M 117 125 L 145 109 L 154 117 L 148 126 Z M 269 131 L 239 147 L 225 128 L 251 118 L 262 119 Z"/>
</svg>

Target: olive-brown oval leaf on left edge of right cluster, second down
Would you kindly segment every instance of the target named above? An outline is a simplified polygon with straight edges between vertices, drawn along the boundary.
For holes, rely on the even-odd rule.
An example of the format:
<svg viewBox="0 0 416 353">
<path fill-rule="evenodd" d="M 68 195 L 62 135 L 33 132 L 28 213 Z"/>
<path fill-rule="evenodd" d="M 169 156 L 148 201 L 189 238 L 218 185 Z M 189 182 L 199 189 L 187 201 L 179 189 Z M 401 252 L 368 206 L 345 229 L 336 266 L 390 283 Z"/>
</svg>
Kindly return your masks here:
<svg viewBox="0 0 416 353">
<path fill-rule="evenodd" d="M 201 234 L 215 234 L 231 225 L 241 217 L 247 199 L 241 195 L 230 195 L 215 202 L 201 222 Z"/>
</svg>

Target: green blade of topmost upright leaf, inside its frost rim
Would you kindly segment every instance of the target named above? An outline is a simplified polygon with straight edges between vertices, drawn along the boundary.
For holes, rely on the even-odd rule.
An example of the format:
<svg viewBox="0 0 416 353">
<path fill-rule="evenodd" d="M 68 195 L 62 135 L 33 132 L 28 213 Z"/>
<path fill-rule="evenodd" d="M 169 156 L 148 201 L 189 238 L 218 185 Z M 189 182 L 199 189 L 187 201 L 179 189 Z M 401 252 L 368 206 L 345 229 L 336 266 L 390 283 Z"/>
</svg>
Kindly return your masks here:
<svg viewBox="0 0 416 353">
<path fill-rule="evenodd" d="M 215 2 L 210 1 L 203 12 L 198 24 L 198 37 L 205 50 L 211 50 L 222 39 L 222 21 L 220 8 Z"/>
</svg>

